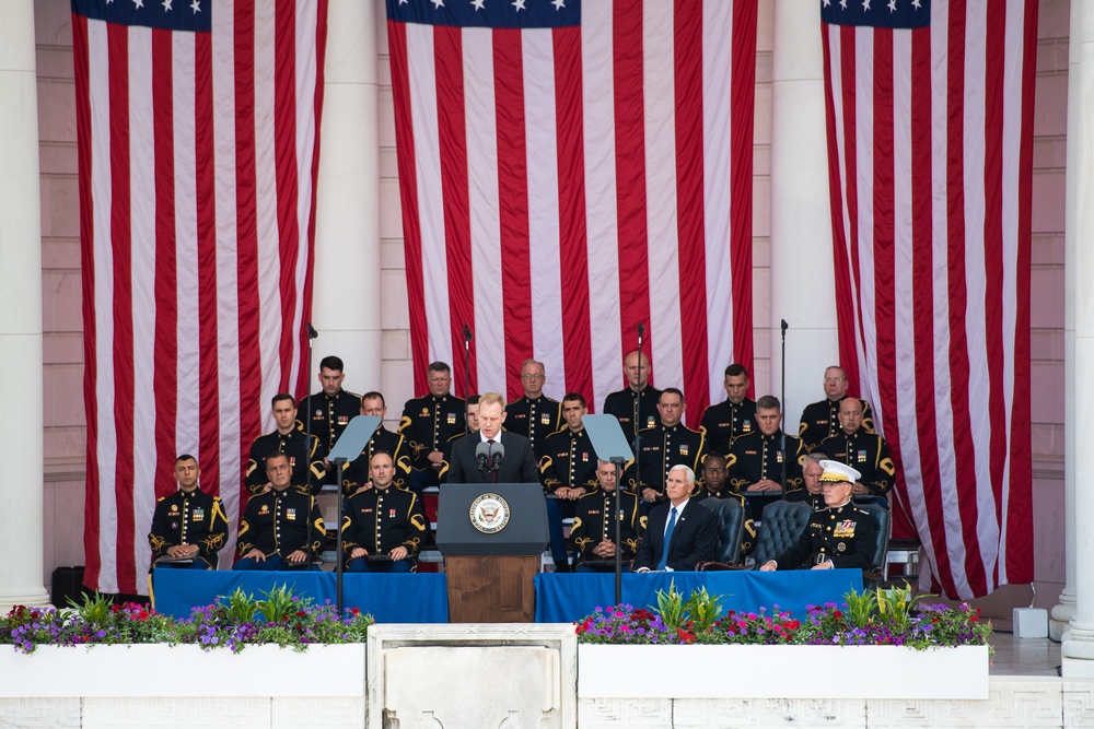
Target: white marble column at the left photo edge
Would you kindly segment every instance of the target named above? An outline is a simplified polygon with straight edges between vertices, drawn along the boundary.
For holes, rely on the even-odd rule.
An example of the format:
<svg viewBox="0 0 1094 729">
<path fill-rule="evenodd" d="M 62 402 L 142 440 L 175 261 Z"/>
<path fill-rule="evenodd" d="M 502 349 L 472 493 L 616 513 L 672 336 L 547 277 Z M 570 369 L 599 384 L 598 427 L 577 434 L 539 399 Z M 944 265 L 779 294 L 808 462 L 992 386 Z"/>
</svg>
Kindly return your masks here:
<svg viewBox="0 0 1094 729">
<path fill-rule="evenodd" d="M 45 604 L 42 223 L 34 3 L 0 0 L 0 613 Z M 18 416 L 14 415 L 18 413 Z"/>
</svg>

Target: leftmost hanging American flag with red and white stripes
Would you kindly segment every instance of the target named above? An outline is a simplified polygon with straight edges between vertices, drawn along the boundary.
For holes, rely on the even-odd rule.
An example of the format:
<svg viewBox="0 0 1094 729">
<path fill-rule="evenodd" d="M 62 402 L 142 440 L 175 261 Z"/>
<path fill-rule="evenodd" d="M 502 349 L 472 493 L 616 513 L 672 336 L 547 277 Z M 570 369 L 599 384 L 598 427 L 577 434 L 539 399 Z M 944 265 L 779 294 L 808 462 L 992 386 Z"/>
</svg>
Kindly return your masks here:
<svg viewBox="0 0 1094 729">
<path fill-rule="evenodd" d="M 147 589 L 179 452 L 234 525 L 304 389 L 325 28 L 325 0 L 72 0 L 89 587 Z"/>
</svg>

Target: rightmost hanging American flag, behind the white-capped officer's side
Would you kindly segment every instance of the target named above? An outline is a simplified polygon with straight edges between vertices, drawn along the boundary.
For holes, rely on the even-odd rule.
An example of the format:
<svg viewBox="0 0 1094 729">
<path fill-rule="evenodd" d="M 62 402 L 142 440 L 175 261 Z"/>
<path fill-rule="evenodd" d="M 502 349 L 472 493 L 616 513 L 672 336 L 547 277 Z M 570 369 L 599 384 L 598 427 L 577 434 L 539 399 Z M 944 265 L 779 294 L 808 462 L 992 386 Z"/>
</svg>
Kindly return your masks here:
<svg viewBox="0 0 1094 729">
<path fill-rule="evenodd" d="M 903 467 L 894 533 L 947 595 L 1029 581 L 1037 2 L 822 20 L 840 357 Z"/>
</svg>

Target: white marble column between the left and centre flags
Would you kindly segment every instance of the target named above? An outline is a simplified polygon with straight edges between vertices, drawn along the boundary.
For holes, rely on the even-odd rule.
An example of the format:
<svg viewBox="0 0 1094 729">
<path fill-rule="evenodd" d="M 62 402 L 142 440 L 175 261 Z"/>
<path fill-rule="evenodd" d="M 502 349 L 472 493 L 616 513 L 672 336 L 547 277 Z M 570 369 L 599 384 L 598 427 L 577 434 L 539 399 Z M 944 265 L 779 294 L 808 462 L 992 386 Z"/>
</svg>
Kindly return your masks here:
<svg viewBox="0 0 1094 729">
<path fill-rule="evenodd" d="M 323 83 L 312 324 L 314 373 L 328 354 L 346 388 L 380 389 L 380 141 L 377 13 L 383 3 L 330 0 Z"/>
</svg>

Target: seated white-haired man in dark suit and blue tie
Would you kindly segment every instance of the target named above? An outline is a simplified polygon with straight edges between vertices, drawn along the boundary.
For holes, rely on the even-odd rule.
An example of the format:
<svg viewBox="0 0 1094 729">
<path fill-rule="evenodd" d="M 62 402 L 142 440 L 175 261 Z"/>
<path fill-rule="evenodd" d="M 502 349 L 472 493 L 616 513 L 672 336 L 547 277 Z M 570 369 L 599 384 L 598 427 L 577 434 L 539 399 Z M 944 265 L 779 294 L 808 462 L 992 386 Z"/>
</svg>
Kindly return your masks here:
<svg viewBox="0 0 1094 729">
<path fill-rule="evenodd" d="M 635 572 L 688 571 L 714 558 L 718 518 L 690 497 L 694 487 L 695 471 L 687 466 L 674 466 L 668 471 L 668 501 L 650 512 L 649 528 L 635 557 Z"/>
</svg>

